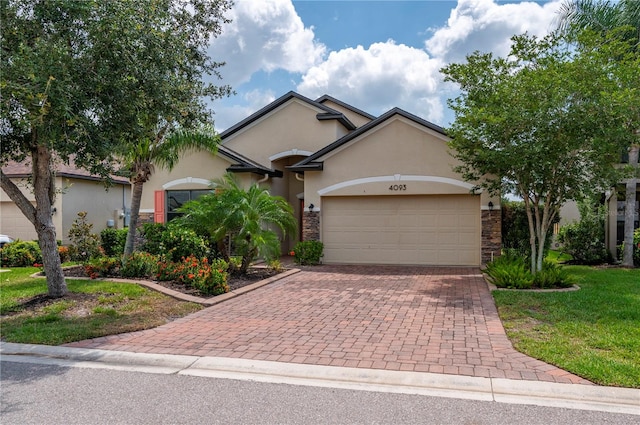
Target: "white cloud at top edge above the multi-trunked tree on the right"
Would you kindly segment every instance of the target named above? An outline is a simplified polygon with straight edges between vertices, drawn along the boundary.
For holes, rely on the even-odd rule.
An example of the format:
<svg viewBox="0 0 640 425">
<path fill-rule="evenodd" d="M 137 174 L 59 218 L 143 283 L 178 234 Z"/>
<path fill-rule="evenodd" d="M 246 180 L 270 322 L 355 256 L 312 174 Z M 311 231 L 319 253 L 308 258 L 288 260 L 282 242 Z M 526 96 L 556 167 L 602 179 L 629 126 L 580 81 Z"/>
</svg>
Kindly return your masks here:
<svg viewBox="0 0 640 425">
<path fill-rule="evenodd" d="M 427 50 L 447 62 L 463 61 L 476 50 L 506 55 L 515 34 L 544 36 L 553 29 L 560 0 L 498 4 L 494 0 L 459 0 L 447 25 L 426 40 Z"/>
</svg>

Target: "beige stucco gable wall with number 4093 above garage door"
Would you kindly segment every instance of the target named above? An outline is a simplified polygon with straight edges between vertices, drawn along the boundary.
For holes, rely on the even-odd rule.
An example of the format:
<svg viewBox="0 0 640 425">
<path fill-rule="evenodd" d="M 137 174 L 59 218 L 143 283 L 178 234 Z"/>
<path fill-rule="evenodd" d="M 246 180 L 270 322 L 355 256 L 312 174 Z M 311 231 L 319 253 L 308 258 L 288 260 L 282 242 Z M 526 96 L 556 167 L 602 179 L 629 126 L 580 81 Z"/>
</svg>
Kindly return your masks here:
<svg viewBox="0 0 640 425">
<path fill-rule="evenodd" d="M 305 202 L 320 207 L 323 195 L 468 194 L 471 185 L 453 172 L 457 161 L 446 142 L 446 136 L 411 120 L 390 118 L 331 152 L 323 171 L 306 172 Z M 490 200 L 500 205 L 499 198 L 482 193 L 482 206 Z"/>
</svg>

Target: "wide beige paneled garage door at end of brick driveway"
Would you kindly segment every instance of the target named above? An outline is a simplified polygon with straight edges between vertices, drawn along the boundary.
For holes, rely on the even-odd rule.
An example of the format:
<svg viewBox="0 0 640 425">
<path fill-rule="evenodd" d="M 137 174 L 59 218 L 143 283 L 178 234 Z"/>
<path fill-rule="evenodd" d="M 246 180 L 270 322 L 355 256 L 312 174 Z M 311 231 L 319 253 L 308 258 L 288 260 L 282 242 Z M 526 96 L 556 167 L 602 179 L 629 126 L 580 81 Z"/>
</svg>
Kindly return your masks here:
<svg viewBox="0 0 640 425">
<path fill-rule="evenodd" d="M 480 197 L 322 198 L 325 263 L 480 264 Z"/>
</svg>

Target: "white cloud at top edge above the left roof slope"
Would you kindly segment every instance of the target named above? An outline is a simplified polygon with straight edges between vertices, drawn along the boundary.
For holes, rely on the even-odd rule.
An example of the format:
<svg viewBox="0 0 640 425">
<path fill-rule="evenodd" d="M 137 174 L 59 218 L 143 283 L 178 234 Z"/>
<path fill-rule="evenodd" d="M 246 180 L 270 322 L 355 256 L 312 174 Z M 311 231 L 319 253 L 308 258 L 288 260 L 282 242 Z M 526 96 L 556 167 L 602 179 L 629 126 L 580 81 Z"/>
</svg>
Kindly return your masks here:
<svg viewBox="0 0 640 425">
<path fill-rule="evenodd" d="M 238 86 L 260 70 L 305 72 L 325 55 L 290 0 L 236 0 L 227 16 L 232 22 L 209 48 L 214 60 L 227 63 L 221 68 L 226 84 Z"/>
</svg>

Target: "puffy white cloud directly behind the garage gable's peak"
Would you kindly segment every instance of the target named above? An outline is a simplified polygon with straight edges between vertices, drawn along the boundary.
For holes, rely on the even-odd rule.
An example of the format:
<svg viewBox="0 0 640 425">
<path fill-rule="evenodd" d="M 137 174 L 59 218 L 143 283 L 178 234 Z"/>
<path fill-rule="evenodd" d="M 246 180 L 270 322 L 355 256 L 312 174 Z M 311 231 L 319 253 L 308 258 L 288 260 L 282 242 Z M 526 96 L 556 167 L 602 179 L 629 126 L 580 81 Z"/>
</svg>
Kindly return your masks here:
<svg viewBox="0 0 640 425">
<path fill-rule="evenodd" d="M 297 90 L 311 98 L 329 94 L 375 115 L 399 106 L 439 122 L 442 65 L 424 50 L 389 40 L 331 52 L 307 71 Z"/>
</svg>

